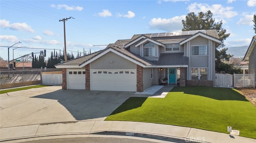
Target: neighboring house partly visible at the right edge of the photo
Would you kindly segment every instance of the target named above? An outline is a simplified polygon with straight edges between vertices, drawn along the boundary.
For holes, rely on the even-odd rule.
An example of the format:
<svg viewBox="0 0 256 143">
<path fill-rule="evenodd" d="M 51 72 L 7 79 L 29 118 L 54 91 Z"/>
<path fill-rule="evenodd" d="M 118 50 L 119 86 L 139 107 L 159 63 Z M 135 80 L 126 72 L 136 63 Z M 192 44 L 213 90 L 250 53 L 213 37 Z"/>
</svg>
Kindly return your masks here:
<svg viewBox="0 0 256 143">
<path fill-rule="evenodd" d="M 248 74 L 254 74 L 254 82 L 256 82 L 256 35 L 252 37 L 252 41 L 245 53 L 243 61 L 249 61 Z"/>
</svg>

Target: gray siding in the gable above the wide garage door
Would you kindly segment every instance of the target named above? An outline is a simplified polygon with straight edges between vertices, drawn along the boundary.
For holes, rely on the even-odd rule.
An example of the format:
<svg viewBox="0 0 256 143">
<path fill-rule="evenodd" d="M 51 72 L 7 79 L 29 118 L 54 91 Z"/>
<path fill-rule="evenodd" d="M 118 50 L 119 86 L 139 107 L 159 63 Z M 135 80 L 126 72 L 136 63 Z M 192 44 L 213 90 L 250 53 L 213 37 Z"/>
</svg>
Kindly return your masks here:
<svg viewBox="0 0 256 143">
<path fill-rule="evenodd" d="M 108 52 L 90 63 L 90 69 L 136 69 L 136 64 L 113 52 Z"/>
</svg>

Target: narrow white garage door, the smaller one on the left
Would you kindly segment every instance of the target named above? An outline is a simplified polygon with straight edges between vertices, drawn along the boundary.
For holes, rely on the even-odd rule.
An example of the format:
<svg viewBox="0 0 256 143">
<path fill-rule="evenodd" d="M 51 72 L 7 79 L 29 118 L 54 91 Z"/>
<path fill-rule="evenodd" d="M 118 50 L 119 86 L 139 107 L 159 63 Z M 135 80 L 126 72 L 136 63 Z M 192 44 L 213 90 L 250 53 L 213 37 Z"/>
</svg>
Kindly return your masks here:
<svg viewBox="0 0 256 143">
<path fill-rule="evenodd" d="M 67 89 L 85 90 L 85 70 L 67 70 Z"/>
</svg>

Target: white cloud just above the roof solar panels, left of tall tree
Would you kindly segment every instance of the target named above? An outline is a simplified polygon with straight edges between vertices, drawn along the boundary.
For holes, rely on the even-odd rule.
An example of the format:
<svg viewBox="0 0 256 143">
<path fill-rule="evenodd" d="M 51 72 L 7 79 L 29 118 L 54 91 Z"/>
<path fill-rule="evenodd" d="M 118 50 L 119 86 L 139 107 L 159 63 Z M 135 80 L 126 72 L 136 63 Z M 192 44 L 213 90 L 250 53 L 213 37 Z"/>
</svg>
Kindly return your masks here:
<svg viewBox="0 0 256 143">
<path fill-rule="evenodd" d="M 163 31 L 181 31 L 183 28 L 182 20 L 184 20 L 186 16 L 175 16 L 173 18 L 165 19 L 165 18 L 153 18 L 149 22 L 149 26 L 151 29 L 158 29 Z"/>
</svg>

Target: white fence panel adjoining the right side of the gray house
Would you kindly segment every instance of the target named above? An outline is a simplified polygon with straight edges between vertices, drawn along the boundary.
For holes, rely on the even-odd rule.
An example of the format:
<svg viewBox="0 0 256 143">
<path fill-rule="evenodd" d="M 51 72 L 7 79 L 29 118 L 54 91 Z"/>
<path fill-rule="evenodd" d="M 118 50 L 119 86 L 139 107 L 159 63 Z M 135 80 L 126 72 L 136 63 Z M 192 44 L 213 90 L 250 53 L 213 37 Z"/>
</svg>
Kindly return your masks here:
<svg viewBox="0 0 256 143">
<path fill-rule="evenodd" d="M 215 74 L 215 86 L 220 87 L 233 87 L 233 75 L 232 74 Z"/>
</svg>

